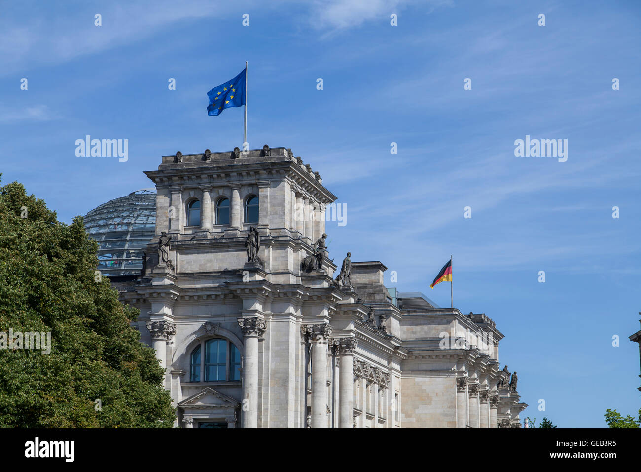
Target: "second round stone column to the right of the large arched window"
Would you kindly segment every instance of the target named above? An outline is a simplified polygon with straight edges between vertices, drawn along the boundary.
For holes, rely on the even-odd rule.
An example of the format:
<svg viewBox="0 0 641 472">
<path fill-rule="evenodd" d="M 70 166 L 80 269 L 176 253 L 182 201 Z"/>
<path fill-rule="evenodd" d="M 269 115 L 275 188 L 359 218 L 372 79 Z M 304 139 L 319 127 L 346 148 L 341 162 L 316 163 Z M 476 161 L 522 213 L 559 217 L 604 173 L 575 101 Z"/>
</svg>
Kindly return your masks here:
<svg viewBox="0 0 641 472">
<path fill-rule="evenodd" d="M 327 353 L 329 323 L 307 324 L 303 333 L 312 342 L 312 428 L 327 428 Z"/>
</svg>

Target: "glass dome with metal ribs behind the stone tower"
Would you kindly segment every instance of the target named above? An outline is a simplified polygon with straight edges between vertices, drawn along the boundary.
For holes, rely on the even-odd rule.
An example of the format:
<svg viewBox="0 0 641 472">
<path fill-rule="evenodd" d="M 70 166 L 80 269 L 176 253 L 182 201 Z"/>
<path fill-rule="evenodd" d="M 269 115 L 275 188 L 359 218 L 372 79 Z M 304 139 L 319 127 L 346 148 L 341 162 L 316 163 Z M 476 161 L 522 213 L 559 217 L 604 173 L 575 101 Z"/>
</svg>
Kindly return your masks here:
<svg viewBox="0 0 641 472">
<path fill-rule="evenodd" d="M 89 236 L 98 241 L 101 274 L 139 274 L 142 252 L 156 229 L 156 189 L 110 200 L 87 213 L 84 221 Z"/>
</svg>

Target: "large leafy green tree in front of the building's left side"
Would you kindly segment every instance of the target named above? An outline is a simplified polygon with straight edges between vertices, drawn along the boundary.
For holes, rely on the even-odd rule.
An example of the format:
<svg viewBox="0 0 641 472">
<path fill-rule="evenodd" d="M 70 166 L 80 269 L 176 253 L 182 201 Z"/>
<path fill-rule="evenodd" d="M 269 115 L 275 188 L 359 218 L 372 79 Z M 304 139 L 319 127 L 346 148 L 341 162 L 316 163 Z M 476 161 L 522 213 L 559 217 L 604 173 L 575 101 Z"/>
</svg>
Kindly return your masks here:
<svg viewBox="0 0 641 472">
<path fill-rule="evenodd" d="M 172 426 L 138 310 L 97 280 L 96 252 L 81 217 L 60 223 L 22 184 L 0 187 L 0 426 Z M 51 353 L 8 349 L 10 329 L 50 331 Z"/>
</svg>

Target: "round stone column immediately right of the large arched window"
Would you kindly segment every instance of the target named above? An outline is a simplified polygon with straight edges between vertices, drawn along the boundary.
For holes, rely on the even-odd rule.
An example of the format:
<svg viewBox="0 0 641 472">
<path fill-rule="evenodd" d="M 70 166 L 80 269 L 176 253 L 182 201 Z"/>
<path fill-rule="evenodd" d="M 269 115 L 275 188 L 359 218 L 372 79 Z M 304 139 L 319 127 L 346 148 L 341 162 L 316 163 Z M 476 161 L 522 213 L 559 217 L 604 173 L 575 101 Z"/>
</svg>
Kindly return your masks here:
<svg viewBox="0 0 641 472">
<path fill-rule="evenodd" d="M 265 320 L 258 317 L 239 318 L 243 333 L 242 413 L 243 428 L 258 428 L 258 338 L 265 333 Z"/>
</svg>

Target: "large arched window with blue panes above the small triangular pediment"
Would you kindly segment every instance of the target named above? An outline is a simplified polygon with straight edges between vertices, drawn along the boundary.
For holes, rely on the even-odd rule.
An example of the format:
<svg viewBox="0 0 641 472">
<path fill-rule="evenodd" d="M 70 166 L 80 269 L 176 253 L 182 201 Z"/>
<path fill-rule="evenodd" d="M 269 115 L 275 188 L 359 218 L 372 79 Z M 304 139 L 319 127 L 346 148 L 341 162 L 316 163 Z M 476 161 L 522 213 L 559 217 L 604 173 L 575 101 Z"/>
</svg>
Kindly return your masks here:
<svg viewBox="0 0 641 472">
<path fill-rule="evenodd" d="M 192 351 L 190 367 L 192 382 L 240 380 L 240 351 L 225 339 L 204 340 Z"/>
</svg>

